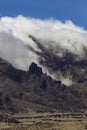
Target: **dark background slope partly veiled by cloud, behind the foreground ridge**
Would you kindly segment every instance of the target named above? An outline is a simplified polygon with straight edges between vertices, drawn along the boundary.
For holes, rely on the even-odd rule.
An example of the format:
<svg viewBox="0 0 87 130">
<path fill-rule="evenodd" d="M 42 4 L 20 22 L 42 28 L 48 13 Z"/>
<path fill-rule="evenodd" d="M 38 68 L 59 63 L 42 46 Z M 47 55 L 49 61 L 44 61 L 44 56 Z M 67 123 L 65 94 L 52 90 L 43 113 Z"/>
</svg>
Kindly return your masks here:
<svg viewBox="0 0 87 130">
<path fill-rule="evenodd" d="M 36 37 L 29 36 L 36 43 L 41 52 L 36 52 L 40 58 L 39 63 L 46 67 L 54 78 L 70 81 L 75 86 L 87 86 L 87 51 L 84 49 L 85 55 L 78 55 L 69 51 L 61 50 L 62 56 L 55 54 L 52 50 L 43 46 Z M 58 50 L 57 50 L 58 51 Z M 60 52 L 60 50 L 59 50 Z M 64 81 L 63 81 L 64 82 Z M 85 83 L 85 84 L 84 84 Z M 69 83 L 68 83 L 69 84 Z M 66 84 L 66 85 L 68 85 Z M 70 85 L 69 84 L 69 85 Z"/>
</svg>

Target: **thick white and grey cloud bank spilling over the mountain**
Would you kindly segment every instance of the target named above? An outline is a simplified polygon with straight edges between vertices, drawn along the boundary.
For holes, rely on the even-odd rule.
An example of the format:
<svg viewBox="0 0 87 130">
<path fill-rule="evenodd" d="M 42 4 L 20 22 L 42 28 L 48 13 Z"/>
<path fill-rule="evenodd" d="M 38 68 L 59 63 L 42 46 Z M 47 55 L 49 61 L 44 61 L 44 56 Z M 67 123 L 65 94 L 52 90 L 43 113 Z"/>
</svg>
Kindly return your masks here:
<svg viewBox="0 0 87 130">
<path fill-rule="evenodd" d="M 0 57 L 16 68 L 28 70 L 46 53 L 63 57 L 72 53 L 80 60 L 87 51 L 87 31 L 71 21 L 23 16 L 0 18 Z M 55 62 L 55 61 L 54 61 Z"/>
</svg>

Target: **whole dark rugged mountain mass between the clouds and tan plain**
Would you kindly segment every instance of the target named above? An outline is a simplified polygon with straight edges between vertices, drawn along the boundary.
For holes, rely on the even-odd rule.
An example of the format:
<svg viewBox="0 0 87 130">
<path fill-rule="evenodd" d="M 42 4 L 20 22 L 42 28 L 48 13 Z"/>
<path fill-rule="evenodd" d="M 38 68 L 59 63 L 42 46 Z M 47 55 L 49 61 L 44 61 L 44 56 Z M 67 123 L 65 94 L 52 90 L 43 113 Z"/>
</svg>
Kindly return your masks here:
<svg viewBox="0 0 87 130">
<path fill-rule="evenodd" d="M 0 110 L 23 111 L 85 111 L 87 109 L 87 62 L 74 61 L 69 55 L 51 62 L 54 71 L 71 76 L 66 86 L 43 73 L 36 63 L 29 71 L 14 68 L 0 58 Z M 50 63 L 50 62 L 48 62 Z M 45 64 L 49 65 L 47 61 Z"/>
</svg>

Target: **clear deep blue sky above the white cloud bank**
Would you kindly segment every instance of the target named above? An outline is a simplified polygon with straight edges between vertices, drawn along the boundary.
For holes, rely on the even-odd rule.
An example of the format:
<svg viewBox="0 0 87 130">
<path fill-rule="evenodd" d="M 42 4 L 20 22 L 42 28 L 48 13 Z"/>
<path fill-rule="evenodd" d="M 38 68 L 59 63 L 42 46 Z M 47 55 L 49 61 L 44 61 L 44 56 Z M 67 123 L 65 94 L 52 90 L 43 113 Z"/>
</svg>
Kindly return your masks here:
<svg viewBox="0 0 87 130">
<path fill-rule="evenodd" d="M 87 0 L 0 0 L 0 16 L 71 20 L 87 29 Z"/>
</svg>

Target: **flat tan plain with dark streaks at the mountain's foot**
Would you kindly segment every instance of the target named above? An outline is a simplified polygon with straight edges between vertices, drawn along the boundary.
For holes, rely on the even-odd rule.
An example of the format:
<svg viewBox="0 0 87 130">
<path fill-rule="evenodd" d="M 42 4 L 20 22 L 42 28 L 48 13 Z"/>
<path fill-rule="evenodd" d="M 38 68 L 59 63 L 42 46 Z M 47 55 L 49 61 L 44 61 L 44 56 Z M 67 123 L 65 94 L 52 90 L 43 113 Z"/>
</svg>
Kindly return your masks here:
<svg viewBox="0 0 87 130">
<path fill-rule="evenodd" d="M 0 122 L 0 130 L 87 130 L 87 117 L 60 116 L 50 113 L 19 114 L 14 117 L 21 123 Z"/>
</svg>

